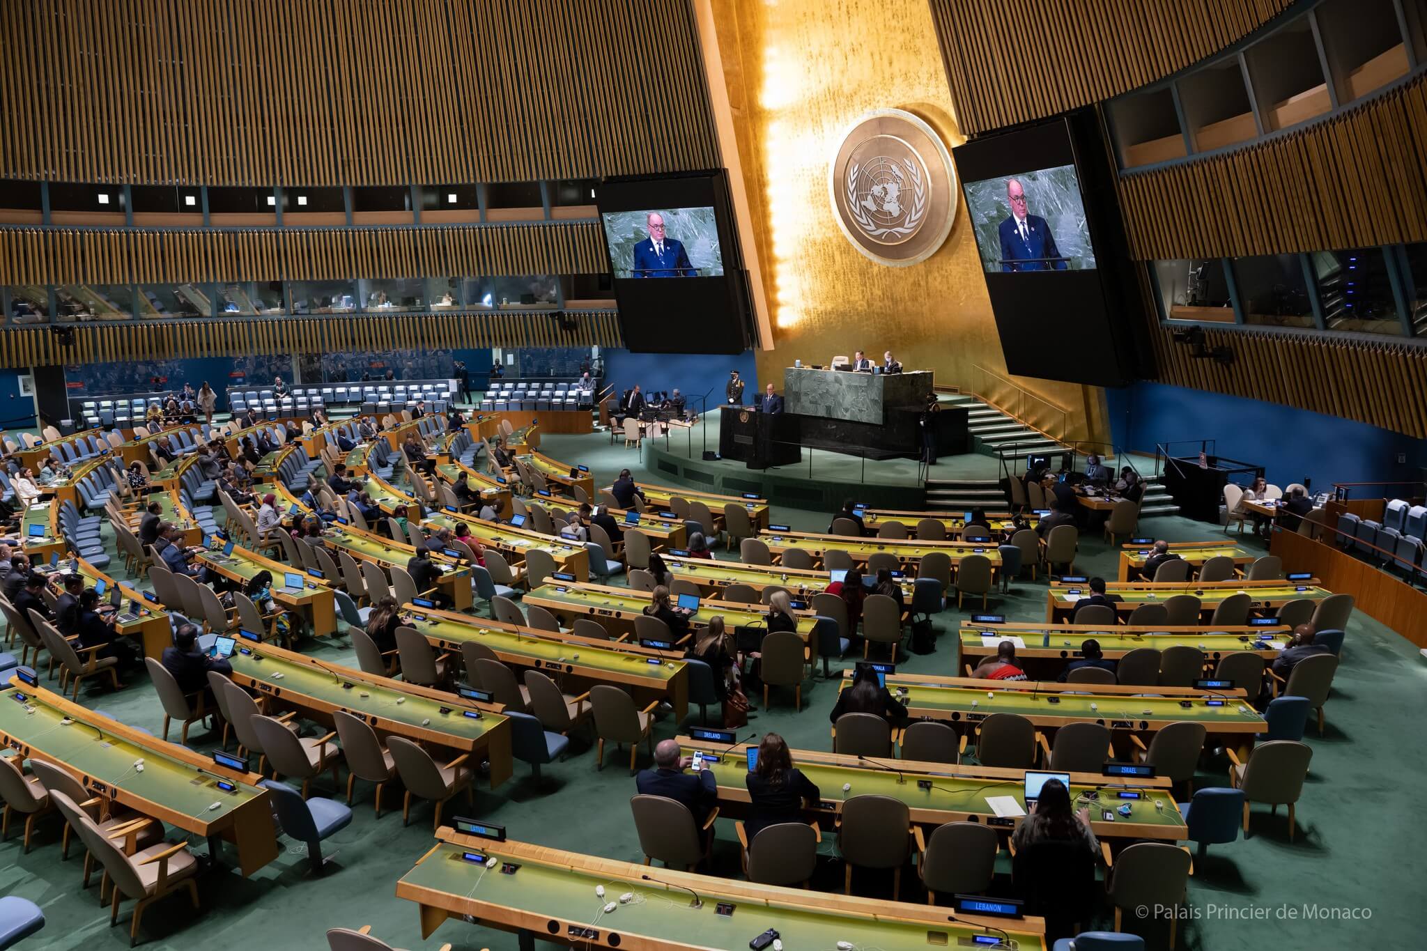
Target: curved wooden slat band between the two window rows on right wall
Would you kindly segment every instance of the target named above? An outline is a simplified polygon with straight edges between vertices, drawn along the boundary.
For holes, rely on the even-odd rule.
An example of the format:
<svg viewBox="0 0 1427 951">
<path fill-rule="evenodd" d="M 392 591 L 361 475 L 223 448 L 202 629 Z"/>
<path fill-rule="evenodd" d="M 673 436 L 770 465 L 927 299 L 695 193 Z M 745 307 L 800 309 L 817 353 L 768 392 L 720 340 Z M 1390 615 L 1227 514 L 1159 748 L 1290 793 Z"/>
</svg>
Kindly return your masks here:
<svg viewBox="0 0 1427 951">
<path fill-rule="evenodd" d="M 1259 145 L 1120 177 L 1139 259 L 1427 241 L 1427 77 Z"/>
</svg>

